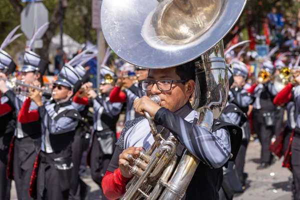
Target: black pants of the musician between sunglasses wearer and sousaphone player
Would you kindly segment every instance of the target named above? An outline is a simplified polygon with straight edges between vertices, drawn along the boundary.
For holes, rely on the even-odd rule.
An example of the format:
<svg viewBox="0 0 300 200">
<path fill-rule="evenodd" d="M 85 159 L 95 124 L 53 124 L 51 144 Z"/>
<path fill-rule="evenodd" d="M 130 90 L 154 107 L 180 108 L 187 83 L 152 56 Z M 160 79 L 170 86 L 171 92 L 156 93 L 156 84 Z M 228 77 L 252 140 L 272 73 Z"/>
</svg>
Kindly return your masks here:
<svg viewBox="0 0 300 200">
<path fill-rule="evenodd" d="M 113 137 L 114 140 L 112 142 L 112 149 L 114 149 L 115 141 L 116 141 L 115 132 L 113 132 L 111 136 Z M 94 132 L 92 144 L 91 144 L 91 151 L 90 151 L 90 172 L 91 172 L 91 178 L 93 179 L 93 181 L 95 181 L 95 183 L 99 185 L 100 188 L 102 188 L 101 186 L 102 178 L 106 172 L 106 169 L 112 157 L 112 153 L 105 154 L 103 152 L 102 147 L 103 146 L 101 146 L 98 141 L 97 132 Z M 101 195 L 102 195 L 102 200 L 107 199 L 104 196 L 103 192 L 101 193 Z"/>
</svg>

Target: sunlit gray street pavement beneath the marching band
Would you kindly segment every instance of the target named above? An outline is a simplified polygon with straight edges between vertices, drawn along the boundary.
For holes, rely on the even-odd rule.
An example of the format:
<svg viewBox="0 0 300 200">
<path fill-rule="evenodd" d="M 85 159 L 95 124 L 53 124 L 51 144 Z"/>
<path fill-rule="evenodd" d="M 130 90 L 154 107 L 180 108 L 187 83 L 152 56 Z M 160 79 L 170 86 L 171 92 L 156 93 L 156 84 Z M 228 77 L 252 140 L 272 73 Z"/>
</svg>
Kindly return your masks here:
<svg viewBox="0 0 300 200">
<path fill-rule="evenodd" d="M 282 158 L 276 160 L 273 165 L 267 169 L 256 170 L 259 164 L 260 144 L 259 142 L 250 142 L 246 154 L 245 172 L 248 173 L 246 190 L 235 196 L 234 200 L 290 200 L 291 188 L 289 184 L 290 171 L 282 168 Z M 84 182 L 91 186 L 88 200 L 99 200 L 100 189 L 90 177 L 83 178 Z M 16 200 L 14 184 L 11 188 L 11 200 Z M 195 199 L 201 199 L 196 197 Z"/>
</svg>

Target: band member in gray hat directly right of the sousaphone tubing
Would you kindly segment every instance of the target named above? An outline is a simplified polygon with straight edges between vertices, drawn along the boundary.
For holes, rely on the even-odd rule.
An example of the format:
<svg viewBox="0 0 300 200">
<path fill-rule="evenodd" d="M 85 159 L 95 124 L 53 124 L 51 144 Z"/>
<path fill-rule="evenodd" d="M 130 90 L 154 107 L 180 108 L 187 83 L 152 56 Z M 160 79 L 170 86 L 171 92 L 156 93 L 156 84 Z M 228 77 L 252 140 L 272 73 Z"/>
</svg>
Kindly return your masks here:
<svg viewBox="0 0 300 200">
<path fill-rule="evenodd" d="M 232 72 L 233 72 L 233 84 L 229 90 L 228 101 L 237 106 L 238 109 L 236 110 L 241 110 L 242 113 L 246 115 L 248 112 L 248 106 L 251 105 L 255 100 L 255 97 L 252 94 L 250 94 L 250 92 L 243 89 L 243 86 L 246 83 L 248 77 L 247 66 L 241 61 L 234 61 L 232 63 Z M 236 125 L 240 125 L 243 132 L 242 132 L 242 142 L 234 163 L 235 163 L 235 169 L 237 171 L 239 180 L 242 183 L 242 186 L 244 188 L 245 180 L 247 177 L 247 174 L 244 173 L 244 164 L 245 164 L 246 149 L 249 142 L 251 130 L 247 119 L 243 121 L 243 123 L 236 124 Z"/>
</svg>

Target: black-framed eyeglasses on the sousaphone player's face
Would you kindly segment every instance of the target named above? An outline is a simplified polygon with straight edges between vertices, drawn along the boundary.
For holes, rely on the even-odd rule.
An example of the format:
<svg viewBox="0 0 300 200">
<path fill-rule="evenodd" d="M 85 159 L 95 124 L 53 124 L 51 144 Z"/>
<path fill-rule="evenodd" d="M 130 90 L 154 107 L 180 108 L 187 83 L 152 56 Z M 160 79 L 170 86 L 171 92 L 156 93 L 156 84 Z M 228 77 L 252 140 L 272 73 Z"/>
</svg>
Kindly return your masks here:
<svg viewBox="0 0 300 200">
<path fill-rule="evenodd" d="M 187 80 L 140 80 L 141 88 L 144 91 L 150 91 L 154 84 L 160 91 L 169 91 L 172 88 L 173 82 L 185 83 Z"/>
</svg>

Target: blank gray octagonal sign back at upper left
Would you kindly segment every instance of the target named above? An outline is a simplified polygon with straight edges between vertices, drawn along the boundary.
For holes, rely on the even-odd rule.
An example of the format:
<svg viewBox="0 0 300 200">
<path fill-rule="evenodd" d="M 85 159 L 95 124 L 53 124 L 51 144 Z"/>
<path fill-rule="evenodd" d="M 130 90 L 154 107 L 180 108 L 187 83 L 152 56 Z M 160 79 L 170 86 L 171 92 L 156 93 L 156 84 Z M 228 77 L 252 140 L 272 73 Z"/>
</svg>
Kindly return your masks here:
<svg viewBox="0 0 300 200">
<path fill-rule="evenodd" d="M 31 39 L 33 33 L 46 22 L 48 22 L 48 10 L 42 2 L 30 2 L 21 12 L 21 30 L 27 39 Z M 36 39 L 40 39 L 43 33 Z"/>
</svg>

